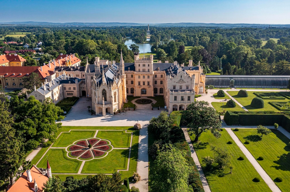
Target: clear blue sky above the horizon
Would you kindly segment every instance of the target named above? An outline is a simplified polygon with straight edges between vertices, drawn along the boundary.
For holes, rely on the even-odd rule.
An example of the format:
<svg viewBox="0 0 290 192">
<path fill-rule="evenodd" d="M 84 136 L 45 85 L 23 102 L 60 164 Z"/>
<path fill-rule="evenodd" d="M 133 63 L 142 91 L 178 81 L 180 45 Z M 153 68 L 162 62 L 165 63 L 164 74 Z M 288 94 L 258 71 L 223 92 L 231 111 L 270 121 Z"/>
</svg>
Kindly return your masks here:
<svg viewBox="0 0 290 192">
<path fill-rule="evenodd" d="M 5 0 L 1 7 L 0 22 L 290 24 L 289 0 Z"/>
</svg>

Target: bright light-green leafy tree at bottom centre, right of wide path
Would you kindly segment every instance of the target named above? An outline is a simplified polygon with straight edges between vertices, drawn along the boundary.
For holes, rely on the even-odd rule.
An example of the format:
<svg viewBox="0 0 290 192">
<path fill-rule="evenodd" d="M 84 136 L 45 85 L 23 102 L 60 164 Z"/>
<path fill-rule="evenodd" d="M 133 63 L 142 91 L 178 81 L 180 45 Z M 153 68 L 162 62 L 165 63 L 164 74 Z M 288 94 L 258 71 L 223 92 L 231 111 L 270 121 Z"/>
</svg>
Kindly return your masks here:
<svg viewBox="0 0 290 192">
<path fill-rule="evenodd" d="M 184 153 L 177 150 L 171 144 L 165 146 L 160 151 L 154 165 L 151 167 L 152 173 L 150 191 L 158 192 L 187 192 L 187 180 L 191 172 Z"/>
</svg>

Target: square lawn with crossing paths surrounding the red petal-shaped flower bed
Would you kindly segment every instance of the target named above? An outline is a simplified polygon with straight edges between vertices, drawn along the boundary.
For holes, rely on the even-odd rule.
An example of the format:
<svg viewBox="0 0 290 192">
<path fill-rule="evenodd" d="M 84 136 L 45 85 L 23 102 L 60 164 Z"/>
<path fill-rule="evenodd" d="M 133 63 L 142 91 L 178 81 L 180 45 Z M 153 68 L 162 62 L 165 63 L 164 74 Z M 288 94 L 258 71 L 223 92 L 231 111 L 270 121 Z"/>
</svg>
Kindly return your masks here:
<svg viewBox="0 0 290 192">
<path fill-rule="evenodd" d="M 88 141 L 89 138 L 108 141 L 109 146 L 111 146 L 110 150 L 104 151 L 105 155 L 99 157 L 94 156 L 94 153 L 91 152 L 93 156 L 87 159 L 72 156 L 71 153 L 74 150 L 71 151 L 70 147 L 79 146 L 77 142 L 80 140 Z M 120 170 L 122 178 L 130 178 L 133 172 L 136 172 L 138 139 L 139 131 L 132 127 L 63 127 L 59 130 L 56 142 L 51 147 L 43 148 L 32 160 L 32 163 L 38 167 L 46 168 L 46 159 L 48 158 L 53 175 L 58 175 L 63 180 L 67 176 L 82 178 L 90 174 L 112 174 L 117 170 Z M 92 149 L 96 149 L 94 147 L 96 146 L 93 145 Z M 85 153 L 82 152 L 82 155 Z M 81 165 L 83 165 L 82 168 Z"/>
</svg>

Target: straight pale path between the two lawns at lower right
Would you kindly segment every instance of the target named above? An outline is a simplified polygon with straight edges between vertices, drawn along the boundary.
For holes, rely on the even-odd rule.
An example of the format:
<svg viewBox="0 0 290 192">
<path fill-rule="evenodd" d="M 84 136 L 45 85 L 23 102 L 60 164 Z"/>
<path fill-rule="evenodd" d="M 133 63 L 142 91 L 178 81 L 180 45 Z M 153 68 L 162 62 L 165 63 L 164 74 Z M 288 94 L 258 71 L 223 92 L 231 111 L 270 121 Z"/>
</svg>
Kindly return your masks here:
<svg viewBox="0 0 290 192">
<path fill-rule="evenodd" d="M 257 160 L 252 156 L 252 154 L 248 151 L 248 149 L 242 144 L 242 142 L 239 140 L 239 138 L 234 134 L 234 132 L 227 128 L 225 129 L 229 135 L 232 137 L 234 142 L 237 144 L 237 146 L 241 149 L 241 151 L 244 153 L 246 158 L 250 161 L 250 163 L 253 165 L 253 167 L 257 170 L 257 172 L 260 174 L 262 179 L 265 181 L 265 183 L 270 187 L 270 189 L 274 192 L 280 192 L 281 190 L 277 187 L 275 182 L 269 177 L 269 175 L 265 172 L 265 170 L 260 166 L 260 164 L 257 162 Z"/>
</svg>

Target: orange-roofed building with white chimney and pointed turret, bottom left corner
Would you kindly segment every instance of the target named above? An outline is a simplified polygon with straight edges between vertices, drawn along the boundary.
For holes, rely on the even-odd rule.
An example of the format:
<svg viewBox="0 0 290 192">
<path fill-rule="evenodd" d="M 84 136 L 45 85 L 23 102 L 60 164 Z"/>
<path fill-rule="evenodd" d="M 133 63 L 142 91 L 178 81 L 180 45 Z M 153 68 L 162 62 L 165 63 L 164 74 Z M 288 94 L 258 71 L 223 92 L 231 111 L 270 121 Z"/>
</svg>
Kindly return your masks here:
<svg viewBox="0 0 290 192">
<path fill-rule="evenodd" d="M 43 184 L 51 177 L 51 167 L 47 160 L 46 169 L 37 168 L 35 165 L 24 172 L 13 185 L 8 185 L 9 192 L 43 192 Z"/>
</svg>

